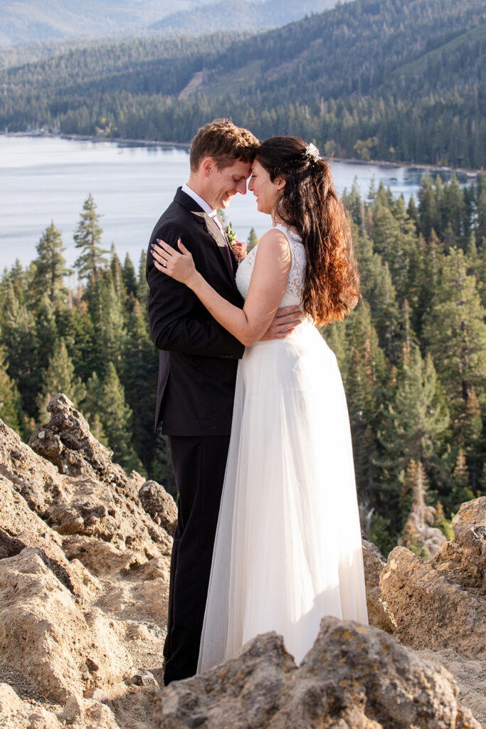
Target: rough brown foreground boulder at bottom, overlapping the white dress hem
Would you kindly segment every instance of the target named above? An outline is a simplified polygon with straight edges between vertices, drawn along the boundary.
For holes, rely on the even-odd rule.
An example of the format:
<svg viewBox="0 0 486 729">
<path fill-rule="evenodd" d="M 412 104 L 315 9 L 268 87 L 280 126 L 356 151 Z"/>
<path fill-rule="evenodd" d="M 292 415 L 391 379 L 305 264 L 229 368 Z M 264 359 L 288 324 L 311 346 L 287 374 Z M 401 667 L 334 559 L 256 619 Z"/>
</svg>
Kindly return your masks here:
<svg viewBox="0 0 486 729">
<path fill-rule="evenodd" d="M 231 717 L 231 720 L 229 720 Z M 377 628 L 324 617 L 299 668 L 280 636 L 248 642 L 233 660 L 174 682 L 158 729 L 479 729 L 436 660 Z"/>
</svg>

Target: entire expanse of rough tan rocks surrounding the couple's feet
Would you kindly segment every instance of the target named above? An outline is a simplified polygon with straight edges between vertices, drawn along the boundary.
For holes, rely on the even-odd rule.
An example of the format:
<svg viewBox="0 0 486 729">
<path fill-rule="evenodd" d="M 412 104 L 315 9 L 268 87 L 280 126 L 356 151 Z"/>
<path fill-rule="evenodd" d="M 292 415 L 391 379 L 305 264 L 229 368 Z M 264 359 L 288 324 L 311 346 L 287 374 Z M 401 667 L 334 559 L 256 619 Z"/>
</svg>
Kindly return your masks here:
<svg viewBox="0 0 486 729">
<path fill-rule="evenodd" d="M 393 636 L 326 618 L 298 668 L 266 634 L 162 692 L 173 499 L 113 464 L 66 397 L 48 409 L 32 448 L 0 421 L 1 726 L 479 727 L 463 705 L 486 722 L 484 500 L 463 505 L 428 565 L 407 550 L 385 564 L 364 540 L 370 620 Z M 434 633 L 441 610 L 450 625 Z"/>
</svg>

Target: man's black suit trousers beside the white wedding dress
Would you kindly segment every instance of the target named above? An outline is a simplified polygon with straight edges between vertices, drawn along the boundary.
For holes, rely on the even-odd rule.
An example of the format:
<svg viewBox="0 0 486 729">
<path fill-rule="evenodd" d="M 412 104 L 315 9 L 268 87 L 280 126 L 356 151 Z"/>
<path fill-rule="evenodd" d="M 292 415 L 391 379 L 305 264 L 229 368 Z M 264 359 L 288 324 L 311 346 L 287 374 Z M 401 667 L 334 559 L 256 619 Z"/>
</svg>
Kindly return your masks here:
<svg viewBox="0 0 486 729">
<path fill-rule="evenodd" d="M 179 491 L 169 587 L 164 683 L 194 676 L 229 435 L 169 436 Z"/>
</svg>

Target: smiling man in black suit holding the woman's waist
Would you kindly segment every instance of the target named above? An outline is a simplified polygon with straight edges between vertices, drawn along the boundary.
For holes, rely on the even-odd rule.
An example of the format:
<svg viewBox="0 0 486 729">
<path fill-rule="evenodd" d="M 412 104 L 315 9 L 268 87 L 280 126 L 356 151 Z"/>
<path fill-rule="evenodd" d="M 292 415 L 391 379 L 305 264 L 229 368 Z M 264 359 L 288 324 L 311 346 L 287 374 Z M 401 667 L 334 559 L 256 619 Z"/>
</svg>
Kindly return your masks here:
<svg viewBox="0 0 486 729">
<path fill-rule="evenodd" d="M 246 194 L 258 147 L 246 129 L 216 120 L 192 140 L 187 184 L 155 225 L 157 238 L 176 247 L 180 237 L 197 270 L 230 303 L 243 307 L 235 285 L 237 262 L 216 208 Z M 194 293 L 154 267 L 147 256 L 152 340 L 160 350 L 155 427 L 168 435 L 179 492 L 169 587 L 164 682 L 193 676 L 208 593 L 235 394 L 244 346 L 224 330 Z M 264 338 L 295 326 L 296 310 L 282 309 Z M 298 323 L 298 322 L 297 322 Z"/>
</svg>

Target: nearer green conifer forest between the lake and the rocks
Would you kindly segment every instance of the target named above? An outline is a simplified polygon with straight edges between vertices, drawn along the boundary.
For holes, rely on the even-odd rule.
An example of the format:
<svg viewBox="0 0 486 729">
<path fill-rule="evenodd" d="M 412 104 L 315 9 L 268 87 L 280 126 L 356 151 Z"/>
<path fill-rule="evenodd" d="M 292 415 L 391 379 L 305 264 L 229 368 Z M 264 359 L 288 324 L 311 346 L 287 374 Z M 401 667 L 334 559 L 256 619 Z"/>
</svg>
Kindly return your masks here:
<svg viewBox="0 0 486 729">
<path fill-rule="evenodd" d="M 461 189 L 455 177 L 425 176 L 408 205 L 374 184 L 365 199 L 353 186 L 343 200 L 362 298 L 321 334 L 348 397 L 364 526 L 387 553 L 419 482 L 445 534 L 460 503 L 486 492 L 486 181 Z M 63 391 L 125 469 L 175 493 L 165 438 L 153 432 L 144 255 L 121 262 L 101 241 L 89 195 L 74 235 L 76 288 L 66 287 L 54 222 L 30 265 L 4 270 L 0 417 L 27 440 Z"/>
</svg>

